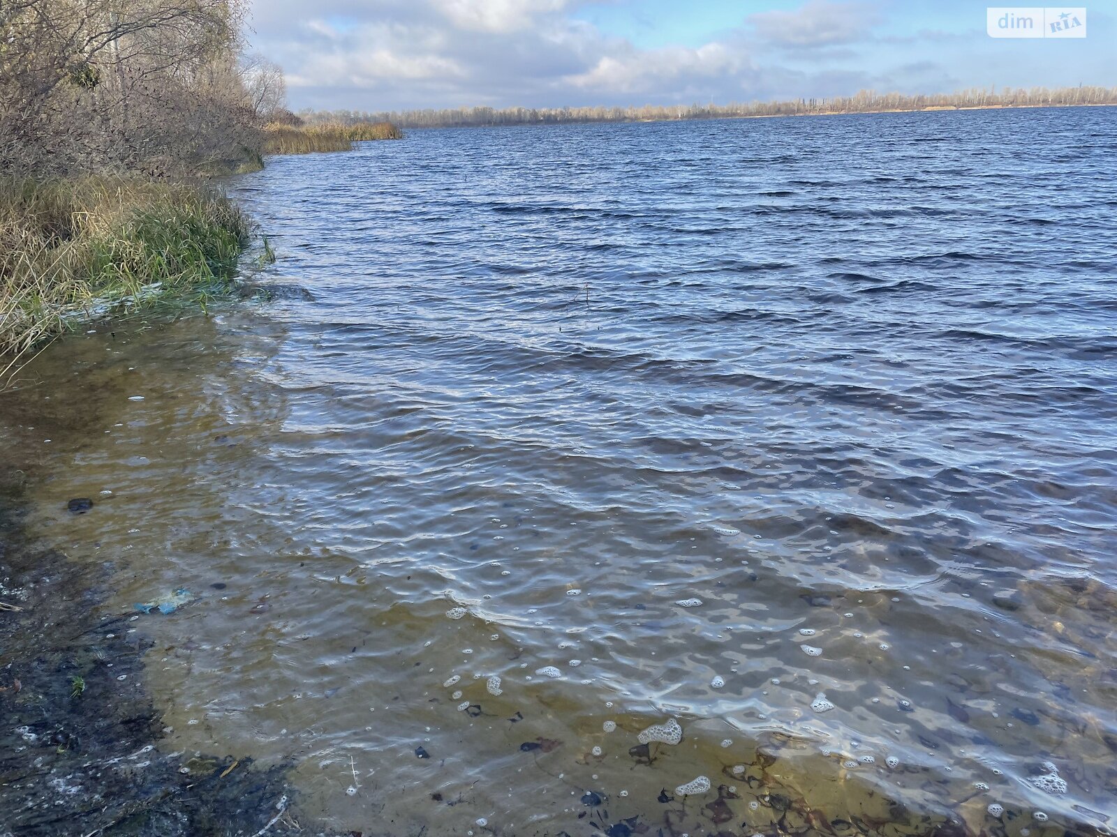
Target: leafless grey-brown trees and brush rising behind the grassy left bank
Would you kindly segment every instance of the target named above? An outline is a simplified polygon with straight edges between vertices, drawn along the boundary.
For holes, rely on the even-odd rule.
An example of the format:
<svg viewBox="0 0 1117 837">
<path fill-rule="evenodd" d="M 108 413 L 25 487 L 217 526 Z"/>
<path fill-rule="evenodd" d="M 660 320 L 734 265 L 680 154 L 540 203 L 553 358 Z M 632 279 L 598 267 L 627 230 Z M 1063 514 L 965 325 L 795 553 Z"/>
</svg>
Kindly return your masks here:
<svg viewBox="0 0 1117 837">
<path fill-rule="evenodd" d="M 258 142 L 244 13 L 241 0 L 0 0 L 0 173 L 242 153 Z"/>
</svg>

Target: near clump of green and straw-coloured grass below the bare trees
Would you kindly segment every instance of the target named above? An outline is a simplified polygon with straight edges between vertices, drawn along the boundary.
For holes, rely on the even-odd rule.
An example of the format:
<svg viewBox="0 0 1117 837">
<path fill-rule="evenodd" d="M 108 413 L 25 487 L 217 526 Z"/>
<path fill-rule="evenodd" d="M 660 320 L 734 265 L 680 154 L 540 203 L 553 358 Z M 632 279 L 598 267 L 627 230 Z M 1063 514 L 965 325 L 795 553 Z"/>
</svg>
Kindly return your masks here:
<svg viewBox="0 0 1117 837">
<path fill-rule="evenodd" d="M 94 306 L 227 283 L 248 234 L 201 184 L 0 179 L 0 371 Z"/>
</svg>

